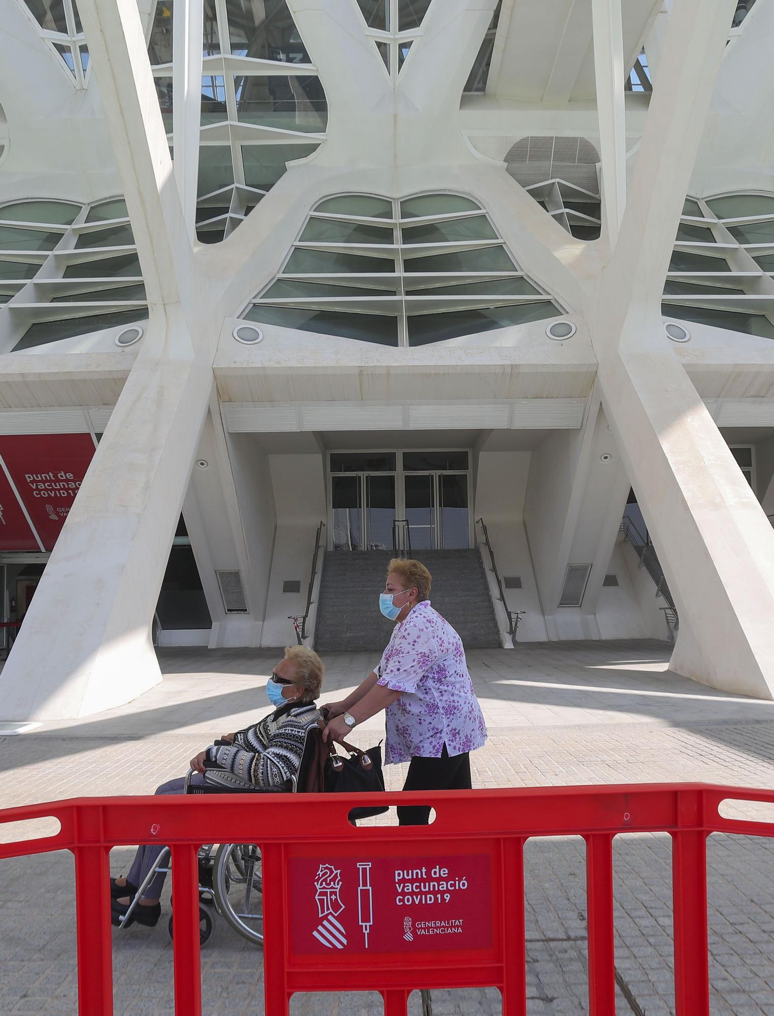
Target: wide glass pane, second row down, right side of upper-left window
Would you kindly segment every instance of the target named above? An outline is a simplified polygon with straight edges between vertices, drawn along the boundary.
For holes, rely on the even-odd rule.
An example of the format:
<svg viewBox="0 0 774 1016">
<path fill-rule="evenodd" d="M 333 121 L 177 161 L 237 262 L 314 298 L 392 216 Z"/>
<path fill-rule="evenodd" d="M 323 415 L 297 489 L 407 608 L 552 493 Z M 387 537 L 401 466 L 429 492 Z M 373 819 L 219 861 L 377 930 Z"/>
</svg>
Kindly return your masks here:
<svg viewBox="0 0 774 1016">
<path fill-rule="evenodd" d="M 319 77 L 235 77 L 237 116 L 244 123 L 279 130 L 320 133 L 328 103 Z"/>
</svg>

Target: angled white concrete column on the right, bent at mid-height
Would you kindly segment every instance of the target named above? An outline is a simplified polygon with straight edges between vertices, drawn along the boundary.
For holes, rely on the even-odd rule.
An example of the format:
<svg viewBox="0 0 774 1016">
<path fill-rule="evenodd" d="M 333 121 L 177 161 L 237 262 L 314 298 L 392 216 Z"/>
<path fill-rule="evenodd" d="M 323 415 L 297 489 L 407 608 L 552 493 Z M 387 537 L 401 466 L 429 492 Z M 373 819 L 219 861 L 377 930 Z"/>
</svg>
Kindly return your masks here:
<svg viewBox="0 0 774 1016">
<path fill-rule="evenodd" d="M 732 0 L 683 0 L 619 242 L 587 307 L 610 426 L 680 613 L 671 665 L 774 697 L 774 532 L 666 336 L 660 294 Z"/>
</svg>

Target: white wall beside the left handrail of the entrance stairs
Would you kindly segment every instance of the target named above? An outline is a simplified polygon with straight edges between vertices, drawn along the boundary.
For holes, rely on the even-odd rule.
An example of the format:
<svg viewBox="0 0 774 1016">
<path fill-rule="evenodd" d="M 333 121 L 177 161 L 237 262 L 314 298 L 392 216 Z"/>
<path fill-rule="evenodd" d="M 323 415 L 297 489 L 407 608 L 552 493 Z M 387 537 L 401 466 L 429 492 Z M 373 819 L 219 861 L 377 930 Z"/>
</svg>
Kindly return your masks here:
<svg viewBox="0 0 774 1016">
<path fill-rule="evenodd" d="M 306 609 L 315 534 L 320 522 L 327 522 L 325 472 L 321 452 L 267 458 L 274 491 L 276 536 L 261 644 L 283 646 L 295 641 L 293 622 L 287 619 L 294 614 L 301 616 Z M 282 592 L 285 579 L 298 579 L 301 591 Z M 314 633 L 313 617 L 307 628 Z"/>
</svg>

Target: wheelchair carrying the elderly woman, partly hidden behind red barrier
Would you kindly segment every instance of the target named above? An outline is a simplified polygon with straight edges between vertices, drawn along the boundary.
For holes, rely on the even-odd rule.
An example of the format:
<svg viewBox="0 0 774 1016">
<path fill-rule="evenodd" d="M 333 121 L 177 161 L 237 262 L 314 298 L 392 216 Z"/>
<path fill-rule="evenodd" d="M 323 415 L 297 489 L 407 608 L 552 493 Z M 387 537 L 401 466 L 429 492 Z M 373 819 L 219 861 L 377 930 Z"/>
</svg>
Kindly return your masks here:
<svg viewBox="0 0 774 1016">
<path fill-rule="evenodd" d="M 286 786 L 291 793 L 303 792 L 307 778 L 315 760 L 321 757 L 322 731 L 312 727 L 307 733 L 301 767 L 297 776 L 292 777 Z M 217 744 L 217 742 L 216 742 Z M 196 785 L 191 783 L 193 769 L 186 775 L 183 792 L 201 793 L 261 793 L 257 787 L 245 785 L 219 786 L 214 784 Z M 237 783 L 234 780 L 235 784 Z M 159 853 L 153 869 L 148 872 L 137 894 L 131 900 L 123 915 L 119 930 L 131 924 L 130 917 L 145 889 L 158 873 L 171 871 L 170 848 Z M 210 843 L 199 849 L 199 942 L 204 945 L 212 935 L 215 919 L 219 915 L 238 935 L 254 945 L 263 944 L 263 880 L 261 852 L 255 843 Z M 175 910 L 169 922 L 170 938 L 173 934 Z"/>
</svg>

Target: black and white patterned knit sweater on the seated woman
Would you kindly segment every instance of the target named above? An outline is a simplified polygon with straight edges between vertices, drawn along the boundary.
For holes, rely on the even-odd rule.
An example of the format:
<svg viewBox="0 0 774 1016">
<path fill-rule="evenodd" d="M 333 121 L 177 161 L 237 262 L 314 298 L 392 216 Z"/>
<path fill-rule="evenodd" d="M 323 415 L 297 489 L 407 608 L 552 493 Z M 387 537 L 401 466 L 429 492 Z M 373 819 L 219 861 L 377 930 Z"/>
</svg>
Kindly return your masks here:
<svg viewBox="0 0 774 1016">
<path fill-rule="evenodd" d="M 288 704 L 253 726 L 239 731 L 231 745 L 211 745 L 207 762 L 264 789 L 280 787 L 301 768 L 307 734 L 320 719 L 314 702 Z"/>
</svg>

